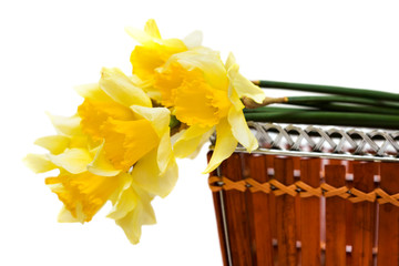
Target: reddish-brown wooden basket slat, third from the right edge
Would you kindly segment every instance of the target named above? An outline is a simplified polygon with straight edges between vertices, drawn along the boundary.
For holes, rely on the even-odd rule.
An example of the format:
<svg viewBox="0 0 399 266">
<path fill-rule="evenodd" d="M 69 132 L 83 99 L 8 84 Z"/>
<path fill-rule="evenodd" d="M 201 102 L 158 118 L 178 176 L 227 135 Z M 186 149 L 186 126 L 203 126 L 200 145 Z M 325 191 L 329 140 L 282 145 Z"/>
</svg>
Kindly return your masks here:
<svg viewBox="0 0 399 266">
<path fill-rule="evenodd" d="M 326 183 L 340 187 L 345 185 L 345 166 L 326 165 Z M 344 198 L 326 198 L 326 266 L 346 266 L 346 219 Z"/>
</svg>

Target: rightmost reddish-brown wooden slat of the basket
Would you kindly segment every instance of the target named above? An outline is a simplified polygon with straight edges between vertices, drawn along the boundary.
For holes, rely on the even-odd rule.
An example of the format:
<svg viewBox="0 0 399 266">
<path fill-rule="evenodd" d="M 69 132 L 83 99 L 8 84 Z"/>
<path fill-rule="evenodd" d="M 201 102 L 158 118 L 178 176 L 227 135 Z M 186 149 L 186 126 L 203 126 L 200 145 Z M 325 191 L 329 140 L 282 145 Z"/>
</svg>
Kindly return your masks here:
<svg viewBox="0 0 399 266">
<path fill-rule="evenodd" d="M 381 163 L 381 190 L 392 195 L 399 193 L 399 164 Z M 378 265 L 399 265 L 399 207 L 379 206 Z"/>
</svg>

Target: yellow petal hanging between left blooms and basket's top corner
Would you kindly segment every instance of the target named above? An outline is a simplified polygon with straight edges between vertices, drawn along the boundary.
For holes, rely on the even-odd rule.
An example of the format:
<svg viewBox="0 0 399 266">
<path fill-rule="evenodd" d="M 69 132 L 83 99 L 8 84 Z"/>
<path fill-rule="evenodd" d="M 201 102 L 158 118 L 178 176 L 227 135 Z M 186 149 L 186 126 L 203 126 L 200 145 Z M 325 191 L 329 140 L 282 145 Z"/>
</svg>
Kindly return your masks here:
<svg viewBox="0 0 399 266">
<path fill-rule="evenodd" d="M 173 145 L 173 152 L 176 157 L 188 157 L 195 153 L 205 140 L 208 140 L 213 133 L 213 127 L 202 127 L 192 125 L 184 131 L 181 137 Z"/>
</svg>

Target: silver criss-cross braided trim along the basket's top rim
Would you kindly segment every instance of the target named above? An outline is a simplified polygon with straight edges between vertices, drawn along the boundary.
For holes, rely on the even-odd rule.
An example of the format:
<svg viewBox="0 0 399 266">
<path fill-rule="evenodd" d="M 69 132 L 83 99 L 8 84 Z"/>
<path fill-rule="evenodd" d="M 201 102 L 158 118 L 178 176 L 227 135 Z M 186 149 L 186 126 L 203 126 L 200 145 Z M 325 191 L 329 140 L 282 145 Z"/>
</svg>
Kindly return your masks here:
<svg viewBox="0 0 399 266">
<path fill-rule="evenodd" d="M 253 153 L 366 161 L 399 161 L 399 131 L 248 122 Z M 211 139 L 215 144 L 215 137 Z M 212 147 L 211 147 L 212 149 Z M 242 146 L 237 152 L 246 152 Z"/>
</svg>

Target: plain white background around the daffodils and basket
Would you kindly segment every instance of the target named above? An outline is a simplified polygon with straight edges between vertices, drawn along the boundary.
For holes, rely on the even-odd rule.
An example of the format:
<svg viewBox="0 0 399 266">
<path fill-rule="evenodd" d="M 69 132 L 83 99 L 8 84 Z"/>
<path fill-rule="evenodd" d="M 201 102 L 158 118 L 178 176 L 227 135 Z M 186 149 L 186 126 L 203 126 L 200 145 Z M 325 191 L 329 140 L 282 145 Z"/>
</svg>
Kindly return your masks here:
<svg viewBox="0 0 399 266">
<path fill-rule="evenodd" d="M 44 114 L 71 115 L 73 85 L 102 66 L 130 73 L 135 42 L 124 27 L 154 18 L 164 38 L 204 33 L 204 45 L 233 51 L 248 79 L 399 88 L 393 1 L 1 1 L 0 265 L 222 265 L 206 149 L 180 161 L 180 181 L 156 200 L 157 225 L 131 245 L 100 212 L 85 225 L 58 224 L 61 203 L 21 163 L 54 131 Z"/>
</svg>

